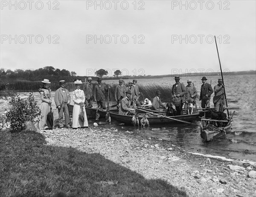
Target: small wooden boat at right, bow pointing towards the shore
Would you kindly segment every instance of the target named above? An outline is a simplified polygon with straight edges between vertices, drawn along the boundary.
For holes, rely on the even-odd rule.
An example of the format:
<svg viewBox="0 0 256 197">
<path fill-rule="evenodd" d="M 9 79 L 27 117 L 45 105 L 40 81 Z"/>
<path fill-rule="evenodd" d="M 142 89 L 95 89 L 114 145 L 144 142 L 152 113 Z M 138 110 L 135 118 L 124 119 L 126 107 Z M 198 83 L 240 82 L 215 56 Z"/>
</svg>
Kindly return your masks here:
<svg viewBox="0 0 256 197">
<path fill-rule="evenodd" d="M 205 141 L 209 142 L 223 134 L 226 135 L 226 132 L 228 132 L 231 129 L 232 117 L 234 113 L 235 111 L 230 116 L 230 120 L 227 121 L 202 118 L 200 123 L 200 131 L 202 138 L 204 138 Z M 215 122 L 224 122 L 226 123 L 226 125 L 224 127 L 216 127 L 213 125 Z"/>
</svg>

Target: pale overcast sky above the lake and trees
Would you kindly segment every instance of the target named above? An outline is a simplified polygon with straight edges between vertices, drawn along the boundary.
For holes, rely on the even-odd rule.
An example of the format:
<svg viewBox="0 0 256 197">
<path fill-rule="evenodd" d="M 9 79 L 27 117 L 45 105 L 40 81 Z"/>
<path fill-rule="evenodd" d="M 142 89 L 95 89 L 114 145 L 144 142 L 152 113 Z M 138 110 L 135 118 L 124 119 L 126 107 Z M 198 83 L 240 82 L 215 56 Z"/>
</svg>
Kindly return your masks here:
<svg viewBox="0 0 256 197">
<path fill-rule="evenodd" d="M 256 70 L 256 1 L 5 1 L 0 68 L 95 76 Z"/>
</svg>

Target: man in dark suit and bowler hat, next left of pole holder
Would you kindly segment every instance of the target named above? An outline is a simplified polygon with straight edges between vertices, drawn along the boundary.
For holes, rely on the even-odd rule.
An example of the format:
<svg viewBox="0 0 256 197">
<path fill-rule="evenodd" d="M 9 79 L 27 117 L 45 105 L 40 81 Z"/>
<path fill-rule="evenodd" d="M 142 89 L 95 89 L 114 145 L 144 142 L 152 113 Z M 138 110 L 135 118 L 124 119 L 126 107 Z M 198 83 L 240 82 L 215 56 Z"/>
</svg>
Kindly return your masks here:
<svg viewBox="0 0 256 197">
<path fill-rule="evenodd" d="M 210 99 L 211 99 L 211 94 L 213 93 L 212 86 L 208 84 L 206 81 L 206 77 L 203 76 L 202 80 L 202 86 L 201 86 L 201 92 L 200 92 L 200 98 L 199 101 L 202 100 L 201 102 L 201 107 L 202 108 L 209 108 L 210 107 Z"/>
</svg>

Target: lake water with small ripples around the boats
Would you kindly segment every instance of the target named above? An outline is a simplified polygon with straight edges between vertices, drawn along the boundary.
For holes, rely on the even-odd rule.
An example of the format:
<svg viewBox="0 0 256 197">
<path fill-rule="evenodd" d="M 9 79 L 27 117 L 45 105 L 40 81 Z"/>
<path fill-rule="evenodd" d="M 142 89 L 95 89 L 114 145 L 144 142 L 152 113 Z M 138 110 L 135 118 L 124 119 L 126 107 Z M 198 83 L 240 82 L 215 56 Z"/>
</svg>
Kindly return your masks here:
<svg viewBox="0 0 256 197">
<path fill-rule="evenodd" d="M 201 78 L 198 77 L 182 77 L 180 82 L 187 84 L 187 79 L 192 79 L 195 87 L 200 92 Z M 218 76 L 207 77 L 208 82 L 212 81 L 212 87 L 218 84 Z M 128 81 L 128 80 L 126 80 Z M 118 80 L 103 81 L 105 83 L 118 83 Z M 139 79 L 137 84 L 169 84 L 170 88 L 175 80 L 172 78 L 162 79 Z M 190 152 L 199 152 L 210 155 L 220 155 L 227 158 L 249 159 L 256 161 L 256 76 L 255 75 L 238 75 L 224 76 L 224 84 L 229 106 L 239 106 L 239 110 L 233 116 L 232 130 L 227 135 L 211 141 L 204 142 L 200 135 L 199 121 L 195 121 L 198 126 L 187 124 L 164 124 L 154 125 L 145 129 L 138 127 L 119 125 L 118 122 L 112 121 L 111 125 L 102 125 L 102 127 L 116 127 L 119 130 L 140 132 L 141 135 L 154 136 L 169 141 L 173 141 L 183 149 Z M 39 101 L 39 93 L 34 93 Z M 29 93 L 22 93 L 25 98 Z M 52 92 L 52 101 L 54 100 L 54 92 Z M 41 102 L 41 101 L 40 101 Z M 212 98 L 211 98 L 211 106 Z M 197 100 L 197 106 L 201 106 L 201 102 Z M 54 117 L 58 117 L 58 110 L 54 102 Z M 233 110 L 232 110 L 233 111 Z M 105 119 L 100 120 L 105 122 Z M 93 125 L 95 120 L 89 121 L 89 126 Z M 123 127 L 123 128 L 122 128 Z M 161 128 L 152 131 L 152 128 Z"/>
</svg>

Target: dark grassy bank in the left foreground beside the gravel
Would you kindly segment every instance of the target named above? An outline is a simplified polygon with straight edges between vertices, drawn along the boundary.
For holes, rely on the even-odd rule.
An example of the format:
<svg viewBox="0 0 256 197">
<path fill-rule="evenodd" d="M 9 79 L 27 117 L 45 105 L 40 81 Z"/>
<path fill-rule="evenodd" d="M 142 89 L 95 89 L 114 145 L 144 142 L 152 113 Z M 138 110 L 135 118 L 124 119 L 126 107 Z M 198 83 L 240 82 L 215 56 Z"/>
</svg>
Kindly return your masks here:
<svg viewBox="0 0 256 197">
<path fill-rule="evenodd" d="M 0 196 L 186 196 L 102 155 L 45 145 L 40 133 L 3 131 L 0 144 Z"/>
</svg>

